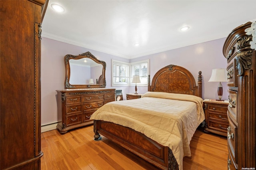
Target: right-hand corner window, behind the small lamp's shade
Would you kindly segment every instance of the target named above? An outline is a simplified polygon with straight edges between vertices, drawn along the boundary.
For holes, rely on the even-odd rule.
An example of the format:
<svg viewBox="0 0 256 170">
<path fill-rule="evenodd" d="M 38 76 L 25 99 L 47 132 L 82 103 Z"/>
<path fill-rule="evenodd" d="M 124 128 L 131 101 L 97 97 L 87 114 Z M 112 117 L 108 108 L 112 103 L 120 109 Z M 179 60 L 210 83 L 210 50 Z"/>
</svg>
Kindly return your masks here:
<svg viewBox="0 0 256 170">
<path fill-rule="evenodd" d="M 139 75 L 141 83 L 138 83 L 138 84 L 147 85 L 148 73 L 149 73 L 149 59 L 130 63 L 130 65 L 131 65 L 131 79 L 134 75 Z"/>
</svg>

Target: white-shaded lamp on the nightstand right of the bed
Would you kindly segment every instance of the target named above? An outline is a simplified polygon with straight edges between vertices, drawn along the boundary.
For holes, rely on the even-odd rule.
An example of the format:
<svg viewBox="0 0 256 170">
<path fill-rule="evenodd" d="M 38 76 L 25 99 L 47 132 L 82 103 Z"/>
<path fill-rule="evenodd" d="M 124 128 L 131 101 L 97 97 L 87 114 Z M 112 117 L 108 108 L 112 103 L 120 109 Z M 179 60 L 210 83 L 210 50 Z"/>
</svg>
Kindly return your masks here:
<svg viewBox="0 0 256 170">
<path fill-rule="evenodd" d="M 227 82 L 227 73 L 226 73 L 226 69 L 212 69 L 212 75 L 211 78 L 208 82 L 220 82 L 218 85 L 218 101 L 223 101 L 221 100 L 222 98 L 222 93 L 223 93 L 223 89 L 222 89 L 222 84 L 221 82 Z"/>
</svg>

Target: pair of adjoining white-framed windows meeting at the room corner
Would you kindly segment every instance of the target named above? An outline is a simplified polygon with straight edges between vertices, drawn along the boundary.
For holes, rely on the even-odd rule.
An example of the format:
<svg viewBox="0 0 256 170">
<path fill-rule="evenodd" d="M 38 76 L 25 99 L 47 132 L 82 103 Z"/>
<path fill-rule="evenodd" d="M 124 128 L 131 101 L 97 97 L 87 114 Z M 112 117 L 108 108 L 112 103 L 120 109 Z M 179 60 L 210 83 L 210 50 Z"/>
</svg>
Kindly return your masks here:
<svg viewBox="0 0 256 170">
<path fill-rule="evenodd" d="M 134 63 L 112 59 L 112 86 L 129 86 L 134 75 L 140 76 L 141 83 L 137 85 L 148 85 L 148 73 L 149 59 Z"/>
</svg>

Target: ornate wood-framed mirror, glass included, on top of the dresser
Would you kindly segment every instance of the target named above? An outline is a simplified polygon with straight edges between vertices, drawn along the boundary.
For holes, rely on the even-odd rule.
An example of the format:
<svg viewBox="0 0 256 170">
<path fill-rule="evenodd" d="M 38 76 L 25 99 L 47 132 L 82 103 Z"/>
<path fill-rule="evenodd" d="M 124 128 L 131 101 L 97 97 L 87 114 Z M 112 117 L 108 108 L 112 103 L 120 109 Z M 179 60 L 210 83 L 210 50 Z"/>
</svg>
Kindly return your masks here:
<svg viewBox="0 0 256 170">
<path fill-rule="evenodd" d="M 65 89 L 106 87 L 106 63 L 89 51 L 80 55 L 65 55 Z"/>
</svg>

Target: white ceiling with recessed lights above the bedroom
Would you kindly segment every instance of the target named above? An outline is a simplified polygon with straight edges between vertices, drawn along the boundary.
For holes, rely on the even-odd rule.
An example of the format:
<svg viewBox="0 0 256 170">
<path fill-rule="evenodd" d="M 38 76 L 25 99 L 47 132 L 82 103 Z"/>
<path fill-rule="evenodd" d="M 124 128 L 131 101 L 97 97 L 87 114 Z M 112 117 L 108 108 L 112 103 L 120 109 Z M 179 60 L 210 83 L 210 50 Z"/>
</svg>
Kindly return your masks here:
<svg viewBox="0 0 256 170">
<path fill-rule="evenodd" d="M 42 36 L 132 59 L 225 38 L 254 19 L 256 0 L 50 0 Z"/>
</svg>

